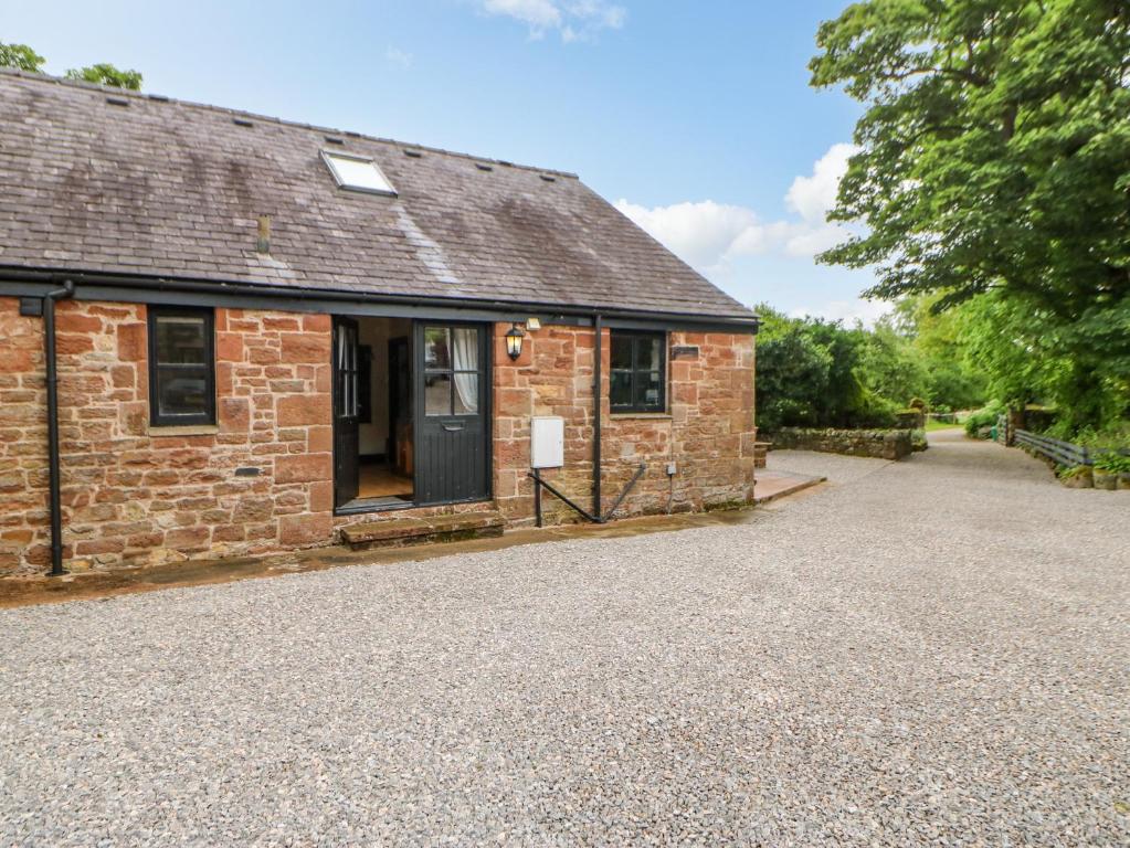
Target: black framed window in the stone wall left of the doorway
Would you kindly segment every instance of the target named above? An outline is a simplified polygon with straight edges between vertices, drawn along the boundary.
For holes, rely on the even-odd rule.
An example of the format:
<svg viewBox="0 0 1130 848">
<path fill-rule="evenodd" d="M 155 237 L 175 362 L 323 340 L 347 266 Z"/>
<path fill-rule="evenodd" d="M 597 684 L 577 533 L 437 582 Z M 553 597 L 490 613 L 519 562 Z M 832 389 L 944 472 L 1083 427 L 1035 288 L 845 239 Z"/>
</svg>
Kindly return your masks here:
<svg viewBox="0 0 1130 848">
<path fill-rule="evenodd" d="M 211 309 L 149 307 L 149 420 L 158 427 L 216 423 Z"/>
</svg>

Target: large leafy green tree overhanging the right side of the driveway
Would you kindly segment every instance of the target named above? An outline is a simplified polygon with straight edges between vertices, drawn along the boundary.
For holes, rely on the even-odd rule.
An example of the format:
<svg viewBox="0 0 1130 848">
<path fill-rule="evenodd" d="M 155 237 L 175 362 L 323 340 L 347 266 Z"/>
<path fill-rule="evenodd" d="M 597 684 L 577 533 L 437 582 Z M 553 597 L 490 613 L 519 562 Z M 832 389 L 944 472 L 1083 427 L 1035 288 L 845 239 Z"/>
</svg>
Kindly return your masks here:
<svg viewBox="0 0 1130 848">
<path fill-rule="evenodd" d="M 936 292 L 936 309 L 991 294 L 974 323 L 992 332 L 1007 314 L 1009 333 L 984 343 L 1071 375 L 1007 400 L 1125 414 L 1130 3 L 867 0 L 817 43 L 812 84 L 867 105 L 829 216 L 864 233 L 822 260 L 873 266 L 871 296 Z"/>
</svg>

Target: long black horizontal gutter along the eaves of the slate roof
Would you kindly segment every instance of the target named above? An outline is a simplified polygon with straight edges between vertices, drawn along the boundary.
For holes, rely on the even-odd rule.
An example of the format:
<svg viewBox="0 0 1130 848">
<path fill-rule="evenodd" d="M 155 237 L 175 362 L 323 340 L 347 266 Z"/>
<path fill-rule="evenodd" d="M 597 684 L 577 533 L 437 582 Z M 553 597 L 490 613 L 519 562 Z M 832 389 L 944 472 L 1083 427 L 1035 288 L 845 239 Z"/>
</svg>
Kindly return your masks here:
<svg viewBox="0 0 1130 848">
<path fill-rule="evenodd" d="M 20 282 L 61 282 L 63 280 L 85 286 L 122 286 L 139 289 L 156 289 L 157 291 L 183 291 L 193 294 L 227 294 L 249 297 L 278 297 L 292 300 L 329 300 L 334 303 L 380 303 L 390 305 L 435 307 L 446 306 L 466 309 L 497 309 L 510 314 L 523 311 L 541 311 L 560 315 L 574 315 L 592 318 L 598 312 L 607 317 L 671 321 L 678 320 L 688 324 L 732 325 L 736 331 L 756 332 L 758 318 L 756 315 L 709 315 L 703 313 L 679 312 L 645 312 L 641 309 L 624 309 L 614 306 L 575 306 L 542 301 L 493 300 L 486 298 L 452 298 L 410 295 L 377 295 L 370 292 L 347 292 L 329 289 L 311 289 L 297 286 L 266 286 L 258 283 L 224 282 L 223 280 L 181 279 L 175 277 L 144 277 L 129 274 L 112 274 L 103 272 L 70 271 L 35 271 L 19 266 L 0 266 L 0 281 Z"/>
</svg>

